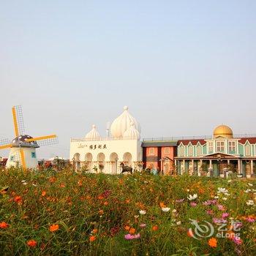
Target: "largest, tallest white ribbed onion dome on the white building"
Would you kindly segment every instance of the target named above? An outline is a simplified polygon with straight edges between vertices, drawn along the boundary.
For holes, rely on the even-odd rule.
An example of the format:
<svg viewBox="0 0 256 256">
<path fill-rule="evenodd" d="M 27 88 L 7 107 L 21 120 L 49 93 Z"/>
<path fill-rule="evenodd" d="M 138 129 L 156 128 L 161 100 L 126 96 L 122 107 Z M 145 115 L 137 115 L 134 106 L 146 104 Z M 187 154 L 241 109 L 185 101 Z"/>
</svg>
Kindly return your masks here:
<svg viewBox="0 0 256 256">
<path fill-rule="evenodd" d="M 135 129 L 138 130 L 140 133 L 140 124 L 138 121 L 129 114 L 128 107 L 124 107 L 124 112 L 121 114 L 121 116 L 118 116 L 110 127 L 110 132 L 113 138 L 123 138 L 124 132 L 127 131 L 127 129 L 130 128 L 131 122 L 134 124 Z"/>
</svg>

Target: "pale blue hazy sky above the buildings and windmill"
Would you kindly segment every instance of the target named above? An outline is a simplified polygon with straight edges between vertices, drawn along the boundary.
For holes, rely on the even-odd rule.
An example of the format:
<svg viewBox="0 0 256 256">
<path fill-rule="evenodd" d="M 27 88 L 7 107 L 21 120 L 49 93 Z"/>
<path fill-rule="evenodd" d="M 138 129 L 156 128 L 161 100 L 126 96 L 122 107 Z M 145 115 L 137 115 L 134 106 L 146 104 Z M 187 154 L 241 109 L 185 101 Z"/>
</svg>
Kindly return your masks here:
<svg viewBox="0 0 256 256">
<path fill-rule="evenodd" d="M 124 105 L 143 137 L 256 133 L 256 1 L 1 1 L 0 138 L 12 105 L 68 157 Z"/>
</svg>

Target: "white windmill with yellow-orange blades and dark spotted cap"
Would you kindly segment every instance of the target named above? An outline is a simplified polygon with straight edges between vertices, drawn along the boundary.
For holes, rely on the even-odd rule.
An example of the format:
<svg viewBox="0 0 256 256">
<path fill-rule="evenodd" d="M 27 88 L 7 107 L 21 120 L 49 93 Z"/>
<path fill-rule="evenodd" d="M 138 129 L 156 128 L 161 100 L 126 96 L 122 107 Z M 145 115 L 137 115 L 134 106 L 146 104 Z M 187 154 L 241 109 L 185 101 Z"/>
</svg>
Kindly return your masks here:
<svg viewBox="0 0 256 256">
<path fill-rule="evenodd" d="M 38 165 L 36 148 L 56 144 L 58 143 L 58 138 L 56 135 L 37 138 L 26 135 L 21 106 L 12 108 L 12 117 L 15 138 L 12 141 L 7 139 L 0 140 L 0 149 L 10 148 L 6 167 L 36 168 Z"/>
</svg>

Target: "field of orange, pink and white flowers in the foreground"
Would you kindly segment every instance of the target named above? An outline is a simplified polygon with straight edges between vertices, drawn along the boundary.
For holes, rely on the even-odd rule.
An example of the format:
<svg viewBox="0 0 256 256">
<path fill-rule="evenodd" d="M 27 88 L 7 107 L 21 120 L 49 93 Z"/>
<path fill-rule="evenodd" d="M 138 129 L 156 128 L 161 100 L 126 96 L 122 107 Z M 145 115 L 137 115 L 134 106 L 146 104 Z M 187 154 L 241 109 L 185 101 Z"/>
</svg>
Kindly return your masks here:
<svg viewBox="0 0 256 256">
<path fill-rule="evenodd" d="M 256 181 L 0 173 L 0 255 L 256 255 Z"/>
</svg>

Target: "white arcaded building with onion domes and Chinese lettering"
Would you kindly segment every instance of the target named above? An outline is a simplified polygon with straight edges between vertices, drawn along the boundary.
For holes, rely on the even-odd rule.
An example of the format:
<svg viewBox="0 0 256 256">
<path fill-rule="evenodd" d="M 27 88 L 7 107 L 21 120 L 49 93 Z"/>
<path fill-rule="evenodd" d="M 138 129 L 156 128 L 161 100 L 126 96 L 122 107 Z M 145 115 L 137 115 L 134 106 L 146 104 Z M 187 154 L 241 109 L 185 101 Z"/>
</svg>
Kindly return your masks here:
<svg viewBox="0 0 256 256">
<path fill-rule="evenodd" d="M 110 126 L 110 135 L 102 138 L 95 125 L 83 139 L 70 140 L 70 159 L 75 168 L 97 173 L 121 173 L 120 164 L 140 170 L 143 148 L 140 124 L 124 107 L 123 113 Z"/>
</svg>

